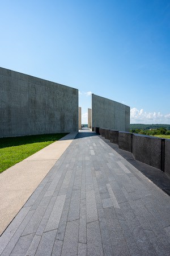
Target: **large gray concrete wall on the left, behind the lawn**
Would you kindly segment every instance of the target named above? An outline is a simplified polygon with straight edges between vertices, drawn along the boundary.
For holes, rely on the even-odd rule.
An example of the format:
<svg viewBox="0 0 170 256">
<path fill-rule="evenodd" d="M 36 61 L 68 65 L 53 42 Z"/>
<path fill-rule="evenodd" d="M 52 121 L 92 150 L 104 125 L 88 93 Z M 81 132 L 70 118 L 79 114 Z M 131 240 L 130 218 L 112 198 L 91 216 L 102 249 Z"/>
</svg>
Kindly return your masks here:
<svg viewBox="0 0 170 256">
<path fill-rule="evenodd" d="M 78 90 L 0 68 L 0 137 L 78 130 Z"/>
</svg>

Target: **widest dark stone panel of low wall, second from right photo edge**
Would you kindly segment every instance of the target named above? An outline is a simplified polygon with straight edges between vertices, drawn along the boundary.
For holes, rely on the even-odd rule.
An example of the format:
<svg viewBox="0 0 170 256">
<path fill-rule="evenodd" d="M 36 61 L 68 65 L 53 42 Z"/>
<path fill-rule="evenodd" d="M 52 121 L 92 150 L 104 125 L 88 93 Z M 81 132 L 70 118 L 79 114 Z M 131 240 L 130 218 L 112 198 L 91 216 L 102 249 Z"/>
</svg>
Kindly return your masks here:
<svg viewBox="0 0 170 256">
<path fill-rule="evenodd" d="M 135 159 L 162 169 L 162 139 L 133 134 L 133 155 Z"/>
</svg>

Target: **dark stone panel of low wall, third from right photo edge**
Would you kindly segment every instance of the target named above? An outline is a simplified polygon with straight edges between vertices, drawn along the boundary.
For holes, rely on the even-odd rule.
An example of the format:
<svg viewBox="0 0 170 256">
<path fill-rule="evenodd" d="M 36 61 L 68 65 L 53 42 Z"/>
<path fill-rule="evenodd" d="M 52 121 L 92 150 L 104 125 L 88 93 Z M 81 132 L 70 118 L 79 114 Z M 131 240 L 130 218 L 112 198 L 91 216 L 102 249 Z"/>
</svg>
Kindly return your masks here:
<svg viewBox="0 0 170 256">
<path fill-rule="evenodd" d="M 118 147 L 122 150 L 132 152 L 132 133 L 119 131 L 118 132 Z"/>
</svg>

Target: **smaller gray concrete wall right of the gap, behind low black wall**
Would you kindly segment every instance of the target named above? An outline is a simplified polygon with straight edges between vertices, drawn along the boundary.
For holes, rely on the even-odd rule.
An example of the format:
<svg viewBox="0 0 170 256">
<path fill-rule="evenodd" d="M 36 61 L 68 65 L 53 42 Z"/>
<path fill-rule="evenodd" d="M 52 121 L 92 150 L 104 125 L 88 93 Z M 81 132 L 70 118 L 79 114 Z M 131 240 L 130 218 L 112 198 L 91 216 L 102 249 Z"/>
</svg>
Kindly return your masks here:
<svg viewBox="0 0 170 256">
<path fill-rule="evenodd" d="M 92 127 L 129 131 L 129 106 L 92 94 Z"/>
</svg>

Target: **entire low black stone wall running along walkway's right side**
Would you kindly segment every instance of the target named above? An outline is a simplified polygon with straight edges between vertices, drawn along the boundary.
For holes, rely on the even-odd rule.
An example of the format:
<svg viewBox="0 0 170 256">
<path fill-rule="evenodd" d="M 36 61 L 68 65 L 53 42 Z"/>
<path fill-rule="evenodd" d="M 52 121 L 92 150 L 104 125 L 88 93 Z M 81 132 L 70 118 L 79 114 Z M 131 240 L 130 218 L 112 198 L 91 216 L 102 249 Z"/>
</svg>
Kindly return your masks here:
<svg viewBox="0 0 170 256">
<path fill-rule="evenodd" d="M 170 139 L 151 137 L 126 131 L 97 128 L 99 134 L 122 150 L 132 152 L 142 163 L 158 168 L 170 175 Z"/>
</svg>

